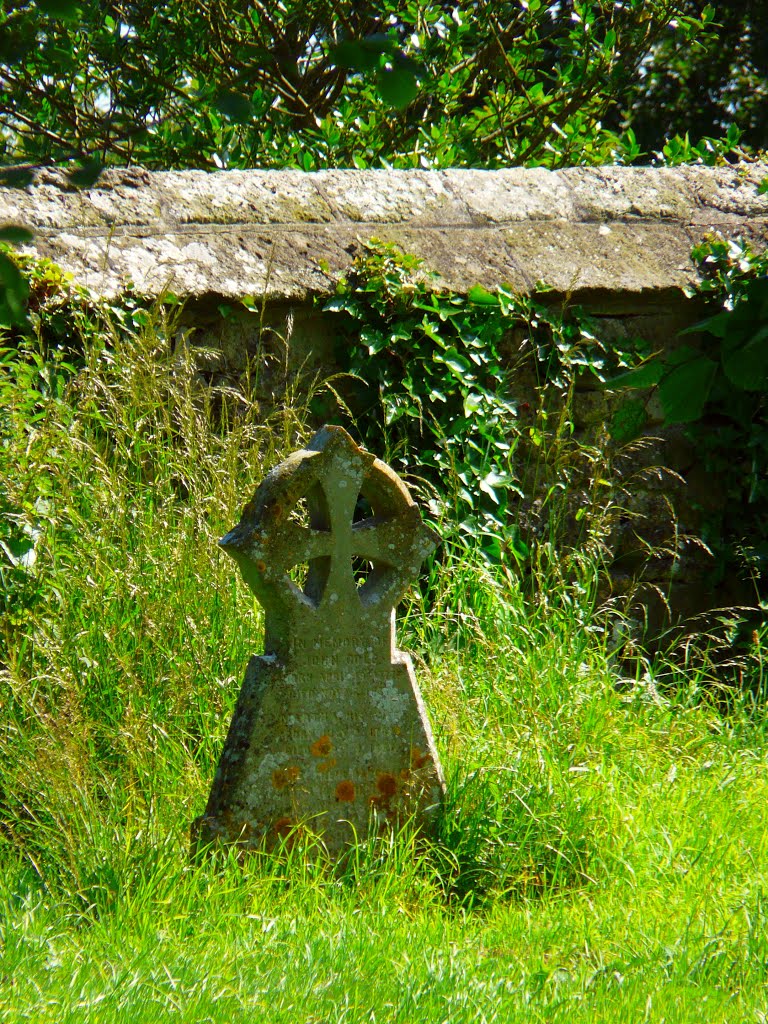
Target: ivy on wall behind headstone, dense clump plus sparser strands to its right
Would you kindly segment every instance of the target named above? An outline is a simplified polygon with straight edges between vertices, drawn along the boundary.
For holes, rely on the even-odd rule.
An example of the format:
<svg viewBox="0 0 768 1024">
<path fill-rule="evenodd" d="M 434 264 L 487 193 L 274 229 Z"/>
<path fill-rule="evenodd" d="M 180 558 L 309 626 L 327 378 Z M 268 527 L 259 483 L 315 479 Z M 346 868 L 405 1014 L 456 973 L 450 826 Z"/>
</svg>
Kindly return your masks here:
<svg viewBox="0 0 768 1024">
<path fill-rule="evenodd" d="M 406 473 L 418 452 L 415 482 L 427 485 L 433 511 L 494 559 L 527 558 L 532 537 L 513 513 L 523 499 L 546 505 L 575 473 L 579 460 L 564 450 L 577 375 L 602 379 L 621 359 L 588 317 L 545 298 L 440 290 L 418 258 L 373 242 L 324 307 L 343 314 L 336 360 L 353 375 L 344 393 L 351 429 L 378 450 L 383 424 L 388 458 Z"/>
</svg>

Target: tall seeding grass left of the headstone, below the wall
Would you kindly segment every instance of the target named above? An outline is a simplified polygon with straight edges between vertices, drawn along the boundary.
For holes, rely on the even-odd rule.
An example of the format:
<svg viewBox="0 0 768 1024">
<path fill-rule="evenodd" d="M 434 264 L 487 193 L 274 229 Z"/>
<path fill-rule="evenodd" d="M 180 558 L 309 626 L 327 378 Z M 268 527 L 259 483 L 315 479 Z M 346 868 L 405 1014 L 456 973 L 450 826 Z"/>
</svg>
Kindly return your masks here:
<svg viewBox="0 0 768 1024">
<path fill-rule="evenodd" d="M 6 833 L 80 889 L 83 851 L 112 860 L 116 829 L 154 831 L 169 801 L 183 828 L 200 800 L 260 628 L 216 539 L 304 437 L 300 410 L 263 422 L 207 388 L 176 338 L 161 308 L 67 383 L 34 352 L 2 382 L 6 556 L 34 539 L 4 566 Z"/>
</svg>

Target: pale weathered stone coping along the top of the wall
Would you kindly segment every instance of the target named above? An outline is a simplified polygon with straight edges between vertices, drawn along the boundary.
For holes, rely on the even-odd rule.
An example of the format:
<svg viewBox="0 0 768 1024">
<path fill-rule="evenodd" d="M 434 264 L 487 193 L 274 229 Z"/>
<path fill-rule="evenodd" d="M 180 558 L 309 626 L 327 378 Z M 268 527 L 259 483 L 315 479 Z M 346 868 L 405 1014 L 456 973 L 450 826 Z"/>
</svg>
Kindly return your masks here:
<svg viewBox="0 0 768 1024">
<path fill-rule="evenodd" d="M 0 188 L 0 223 L 34 232 L 94 294 L 327 295 L 372 238 L 416 253 L 457 291 L 538 283 L 626 314 L 695 284 L 712 231 L 768 243 L 766 164 L 510 170 L 106 170 L 76 189 L 40 169 Z"/>
</svg>

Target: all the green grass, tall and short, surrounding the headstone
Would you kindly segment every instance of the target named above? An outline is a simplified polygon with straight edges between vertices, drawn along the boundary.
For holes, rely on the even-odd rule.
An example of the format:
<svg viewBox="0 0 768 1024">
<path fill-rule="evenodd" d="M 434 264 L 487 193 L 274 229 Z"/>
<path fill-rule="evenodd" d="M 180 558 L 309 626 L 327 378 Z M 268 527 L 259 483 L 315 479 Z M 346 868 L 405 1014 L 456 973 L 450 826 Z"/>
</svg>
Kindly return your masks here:
<svg viewBox="0 0 768 1024">
<path fill-rule="evenodd" d="M 403 608 L 438 842 L 189 864 L 261 625 L 215 542 L 309 430 L 173 334 L 3 356 L 0 1020 L 768 1021 L 764 719 L 617 689 L 588 574 L 450 549 Z"/>
</svg>

